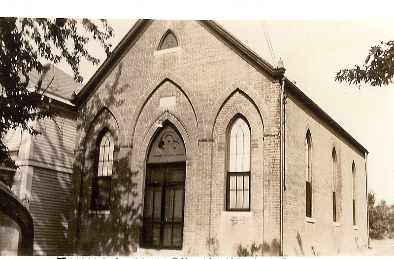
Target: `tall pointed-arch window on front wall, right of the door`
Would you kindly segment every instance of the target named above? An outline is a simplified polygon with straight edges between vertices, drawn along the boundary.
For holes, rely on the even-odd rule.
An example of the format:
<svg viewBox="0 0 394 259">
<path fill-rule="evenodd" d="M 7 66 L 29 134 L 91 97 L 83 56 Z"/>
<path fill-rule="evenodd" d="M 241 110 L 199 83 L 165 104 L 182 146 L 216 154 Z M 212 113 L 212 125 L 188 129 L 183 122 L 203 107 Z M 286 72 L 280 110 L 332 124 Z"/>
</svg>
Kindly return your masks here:
<svg viewBox="0 0 394 259">
<path fill-rule="evenodd" d="M 229 127 L 226 210 L 250 210 L 250 127 L 237 117 Z"/>
</svg>

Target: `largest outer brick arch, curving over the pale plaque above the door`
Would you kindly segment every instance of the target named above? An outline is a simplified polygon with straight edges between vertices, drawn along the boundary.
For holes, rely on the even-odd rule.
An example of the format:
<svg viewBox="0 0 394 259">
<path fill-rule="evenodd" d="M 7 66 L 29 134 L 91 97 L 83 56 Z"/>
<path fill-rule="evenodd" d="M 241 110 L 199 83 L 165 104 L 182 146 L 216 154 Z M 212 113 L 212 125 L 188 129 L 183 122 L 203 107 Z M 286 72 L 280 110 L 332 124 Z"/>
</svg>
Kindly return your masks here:
<svg viewBox="0 0 394 259">
<path fill-rule="evenodd" d="M 170 79 L 171 78 L 171 79 Z M 197 128 L 198 129 L 203 129 L 200 125 L 204 125 L 203 121 L 203 116 L 202 116 L 202 110 L 200 103 L 197 99 L 196 94 L 194 93 L 193 89 L 187 85 L 181 78 L 176 76 L 173 73 L 163 73 L 161 74 L 153 83 L 151 83 L 145 92 L 140 96 L 138 104 L 136 105 L 137 109 L 135 109 L 131 115 L 131 120 L 129 125 L 127 125 L 128 129 L 131 129 L 131 136 L 130 138 L 127 136 L 128 139 L 130 139 L 130 145 L 133 145 L 133 139 L 134 139 L 134 133 L 135 133 L 135 127 L 137 126 L 138 122 L 138 117 L 141 114 L 142 110 L 144 109 L 146 103 L 148 102 L 149 98 L 156 92 L 157 89 L 159 89 L 160 86 L 162 86 L 165 82 L 170 82 L 176 87 L 178 87 L 182 93 L 185 95 L 187 100 L 189 101 L 193 112 L 195 114 L 195 120 L 197 123 Z M 139 108 L 139 109 L 138 109 Z"/>
</svg>

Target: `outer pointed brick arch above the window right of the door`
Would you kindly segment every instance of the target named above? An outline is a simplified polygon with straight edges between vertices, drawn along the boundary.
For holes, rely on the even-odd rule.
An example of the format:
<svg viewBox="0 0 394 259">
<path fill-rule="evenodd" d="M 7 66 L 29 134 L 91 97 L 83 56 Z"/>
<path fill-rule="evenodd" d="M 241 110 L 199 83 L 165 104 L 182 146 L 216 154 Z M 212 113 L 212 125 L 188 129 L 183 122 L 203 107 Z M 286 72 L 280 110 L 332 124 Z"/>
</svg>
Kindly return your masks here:
<svg viewBox="0 0 394 259">
<path fill-rule="evenodd" d="M 267 129 L 272 129 L 274 127 L 274 123 L 271 118 L 272 116 L 268 112 L 268 108 L 266 107 L 263 98 L 251 86 L 244 82 L 239 82 L 229 86 L 216 100 L 206 121 L 205 133 L 207 135 L 210 134 L 213 137 L 214 126 L 220 111 L 226 102 L 231 98 L 231 96 L 233 96 L 236 92 L 243 93 L 248 97 L 253 106 L 255 106 L 256 110 L 259 112 L 261 124 L 263 127 Z"/>
</svg>

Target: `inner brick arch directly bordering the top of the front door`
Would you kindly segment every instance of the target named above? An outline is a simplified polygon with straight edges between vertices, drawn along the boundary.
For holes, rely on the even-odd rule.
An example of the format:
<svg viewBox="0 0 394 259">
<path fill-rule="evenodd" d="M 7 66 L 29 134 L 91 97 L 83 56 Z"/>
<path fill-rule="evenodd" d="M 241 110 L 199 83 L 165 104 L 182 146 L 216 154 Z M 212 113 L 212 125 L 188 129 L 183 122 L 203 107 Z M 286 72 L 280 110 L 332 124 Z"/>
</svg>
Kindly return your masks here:
<svg viewBox="0 0 394 259">
<path fill-rule="evenodd" d="M 156 133 L 156 131 L 158 129 L 158 127 L 156 125 L 156 122 L 158 120 L 163 121 L 163 122 L 169 121 L 177 128 L 177 130 L 181 134 L 181 137 L 182 137 L 184 144 L 185 144 L 186 164 L 193 163 L 194 157 L 195 157 L 194 145 L 193 145 L 193 142 L 191 141 L 191 138 L 190 138 L 186 128 L 178 120 L 178 118 L 176 118 L 172 113 L 170 113 L 169 111 L 164 111 L 164 113 L 157 120 L 152 122 L 151 127 L 149 128 L 149 130 L 145 134 L 145 137 L 141 143 L 141 146 L 138 148 L 138 165 L 140 167 L 144 167 L 149 144 L 151 142 L 152 137 L 154 136 L 154 134 Z"/>
</svg>

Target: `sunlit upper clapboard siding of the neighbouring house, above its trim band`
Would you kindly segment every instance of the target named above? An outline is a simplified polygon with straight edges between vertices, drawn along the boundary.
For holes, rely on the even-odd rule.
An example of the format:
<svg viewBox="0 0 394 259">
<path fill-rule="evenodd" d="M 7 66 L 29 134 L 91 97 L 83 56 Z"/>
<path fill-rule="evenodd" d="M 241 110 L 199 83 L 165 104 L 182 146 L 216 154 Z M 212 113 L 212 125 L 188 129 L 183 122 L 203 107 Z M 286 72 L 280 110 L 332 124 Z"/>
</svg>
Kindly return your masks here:
<svg viewBox="0 0 394 259">
<path fill-rule="evenodd" d="M 34 140 L 33 160 L 48 168 L 72 169 L 75 143 L 75 121 L 66 114 L 37 121 L 41 135 Z M 51 168 L 54 169 L 54 168 Z"/>
</svg>

